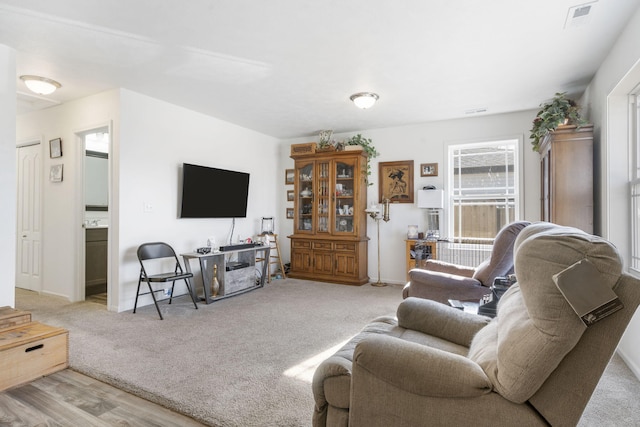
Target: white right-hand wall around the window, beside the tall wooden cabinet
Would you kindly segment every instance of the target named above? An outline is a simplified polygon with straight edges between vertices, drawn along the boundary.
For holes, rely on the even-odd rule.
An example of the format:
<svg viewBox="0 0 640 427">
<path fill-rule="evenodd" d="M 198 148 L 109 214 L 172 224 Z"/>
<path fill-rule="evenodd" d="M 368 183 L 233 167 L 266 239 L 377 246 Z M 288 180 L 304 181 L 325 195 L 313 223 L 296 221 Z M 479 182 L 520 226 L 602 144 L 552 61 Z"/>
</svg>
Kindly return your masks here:
<svg viewBox="0 0 640 427">
<path fill-rule="evenodd" d="M 640 10 L 631 18 L 589 85 L 583 104 L 594 123 L 596 191 L 602 234 L 629 259 L 629 159 L 627 97 L 640 84 Z M 598 219 L 598 218 L 597 218 Z M 635 236 L 637 238 L 637 236 Z M 628 265 L 628 262 L 627 262 Z M 640 311 L 623 337 L 618 352 L 640 378 Z"/>
</svg>

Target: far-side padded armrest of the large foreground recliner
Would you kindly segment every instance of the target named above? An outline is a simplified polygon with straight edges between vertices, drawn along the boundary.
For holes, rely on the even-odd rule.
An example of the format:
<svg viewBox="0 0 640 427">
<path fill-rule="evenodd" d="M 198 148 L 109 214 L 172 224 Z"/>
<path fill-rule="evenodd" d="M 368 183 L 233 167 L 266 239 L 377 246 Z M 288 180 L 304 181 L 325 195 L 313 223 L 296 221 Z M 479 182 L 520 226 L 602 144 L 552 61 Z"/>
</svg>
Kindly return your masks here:
<svg viewBox="0 0 640 427">
<path fill-rule="evenodd" d="M 409 297 L 397 311 L 398 325 L 469 347 L 475 334 L 490 321 L 448 305 Z"/>
</svg>

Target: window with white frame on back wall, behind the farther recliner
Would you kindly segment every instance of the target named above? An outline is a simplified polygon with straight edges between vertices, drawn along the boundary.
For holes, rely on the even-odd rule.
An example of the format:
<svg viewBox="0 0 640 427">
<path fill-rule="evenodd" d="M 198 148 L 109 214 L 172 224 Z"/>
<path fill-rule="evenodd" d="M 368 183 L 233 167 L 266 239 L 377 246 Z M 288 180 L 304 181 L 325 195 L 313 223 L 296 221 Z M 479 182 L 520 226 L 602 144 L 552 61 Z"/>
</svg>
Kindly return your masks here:
<svg viewBox="0 0 640 427">
<path fill-rule="evenodd" d="M 519 139 L 449 146 L 449 236 L 493 239 L 519 217 Z"/>
</svg>

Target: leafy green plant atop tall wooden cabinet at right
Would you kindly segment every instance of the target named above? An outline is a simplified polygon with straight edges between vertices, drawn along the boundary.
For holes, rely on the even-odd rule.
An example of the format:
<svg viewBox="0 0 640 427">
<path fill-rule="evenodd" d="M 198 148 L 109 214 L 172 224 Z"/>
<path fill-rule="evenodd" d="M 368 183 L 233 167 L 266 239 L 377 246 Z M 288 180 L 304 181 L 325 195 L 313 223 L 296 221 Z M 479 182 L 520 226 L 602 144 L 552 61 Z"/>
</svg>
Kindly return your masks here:
<svg viewBox="0 0 640 427">
<path fill-rule="evenodd" d="M 579 129 L 587 121 L 580 116 L 580 107 L 572 99 L 567 99 L 567 93 L 556 93 L 553 99 L 541 104 L 542 107 L 531 128 L 531 145 L 533 151 L 539 151 L 540 142 L 549 133 L 563 124 L 576 125 Z"/>
</svg>

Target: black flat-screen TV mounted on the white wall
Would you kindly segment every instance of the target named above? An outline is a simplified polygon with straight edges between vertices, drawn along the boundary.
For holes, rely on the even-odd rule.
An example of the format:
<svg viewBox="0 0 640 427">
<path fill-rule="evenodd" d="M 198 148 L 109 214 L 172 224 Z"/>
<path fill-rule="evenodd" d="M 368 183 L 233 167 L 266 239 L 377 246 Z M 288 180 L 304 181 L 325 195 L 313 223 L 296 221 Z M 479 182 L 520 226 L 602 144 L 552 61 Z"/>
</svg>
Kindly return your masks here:
<svg viewBox="0 0 640 427">
<path fill-rule="evenodd" d="M 245 218 L 249 174 L 184 163 L 180 218 Z"/>
</svg>

